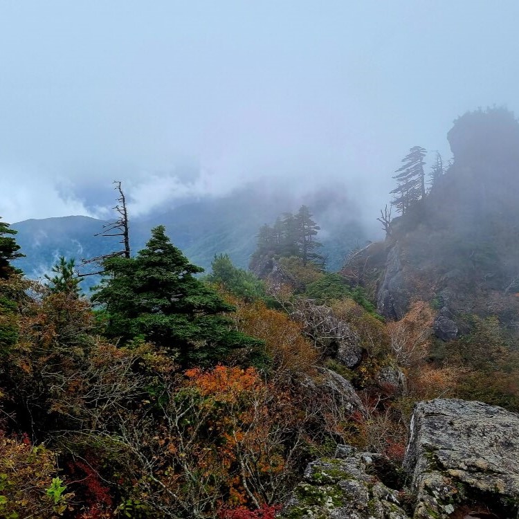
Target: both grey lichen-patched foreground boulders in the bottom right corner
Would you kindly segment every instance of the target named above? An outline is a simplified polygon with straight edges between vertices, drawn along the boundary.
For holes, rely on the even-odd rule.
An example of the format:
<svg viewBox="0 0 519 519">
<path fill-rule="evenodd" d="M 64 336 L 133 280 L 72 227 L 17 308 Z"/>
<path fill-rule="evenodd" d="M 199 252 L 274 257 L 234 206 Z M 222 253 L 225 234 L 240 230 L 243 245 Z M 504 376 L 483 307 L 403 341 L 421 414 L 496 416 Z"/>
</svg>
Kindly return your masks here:
<svg viewBox="0 0 519 519">
<path fill-rule="evenodd" d="M 403 467 L 339 446 L 311 462 L 283 519 L 516 518 L 519 416 L 458 399 L 421 402 Z"/>
</svg>

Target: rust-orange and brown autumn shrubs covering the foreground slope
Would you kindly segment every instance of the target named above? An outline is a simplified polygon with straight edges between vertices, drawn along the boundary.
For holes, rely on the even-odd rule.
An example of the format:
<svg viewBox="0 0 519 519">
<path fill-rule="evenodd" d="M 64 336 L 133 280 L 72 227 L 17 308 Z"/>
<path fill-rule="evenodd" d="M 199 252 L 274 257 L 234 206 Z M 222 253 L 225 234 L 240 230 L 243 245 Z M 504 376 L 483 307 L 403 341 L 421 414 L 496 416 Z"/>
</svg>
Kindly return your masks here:
<svg viewBox="0 0 519 519">
<path fill-rule="evenodd" d="M 385 322 L 363 291 L 295 260 L 282 262 L 294 286 L 268 296 L 231 269 L 234 295 L 189 278 L 156 300 L 154 262 L 146 295 L 125 277 L 149 312 L 120 336 L 106 333 L 106 308 L 66 286 L 0 280 L 0 516 L 273 519 L 307 463 L 338 443 L 401 461 L 418 399 L 519 408 L 519 356 L 496 317 L 473 316 L 471 333 L 439 344 L 428 303 Z M 301 293 L 312 284 L 319 300 Z M 210 295 L 203 319 L 198 289 Z M 172 331 L 160 340 L 159 303 Z M 355 363 L 340 360 L 341 341 Z"/>
</svg>

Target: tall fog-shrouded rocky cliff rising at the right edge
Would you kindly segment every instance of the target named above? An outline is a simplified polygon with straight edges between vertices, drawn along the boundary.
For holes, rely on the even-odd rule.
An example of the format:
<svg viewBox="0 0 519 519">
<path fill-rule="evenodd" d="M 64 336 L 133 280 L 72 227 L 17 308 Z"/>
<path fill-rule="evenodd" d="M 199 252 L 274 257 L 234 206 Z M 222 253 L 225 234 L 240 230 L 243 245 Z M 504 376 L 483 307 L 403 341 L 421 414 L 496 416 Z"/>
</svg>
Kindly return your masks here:
<svg viewBox="0 0 519 519">
<path fill-rule="evenodd" d="M 438 311 L 435 334 L 464 332 L 463 316 L 497 316 L 515 335 L 519 313 L 519 124 L 504 109 L 476 111 L 448 133 L 453 163 L 428 195 L 394 218 L 383 244 L 343 269 L 379 311 L 400 319 L 412 300 Z"/>
</svg>

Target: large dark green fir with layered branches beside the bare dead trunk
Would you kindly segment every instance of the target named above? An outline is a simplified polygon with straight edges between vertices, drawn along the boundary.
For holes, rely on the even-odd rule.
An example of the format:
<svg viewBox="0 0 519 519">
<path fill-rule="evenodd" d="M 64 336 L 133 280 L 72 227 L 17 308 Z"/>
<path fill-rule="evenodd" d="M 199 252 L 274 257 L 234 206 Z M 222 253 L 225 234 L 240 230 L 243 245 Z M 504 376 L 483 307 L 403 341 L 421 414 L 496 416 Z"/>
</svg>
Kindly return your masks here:
<svg viewBox="0 0 519 519">
<path fill-rule="evenodd" d="M 262 341 L 230 328 L 223 313 L 234 307 L 194 277 L 203 268 L 189 262 L 163 226 L 152 229 L 136 257 L 111 257 L 103 265 L 106 277 L 92 299 L 106 308 L 110 338 L 149 340 L 181 367 L 214 365 L 233 350 L 256 365 L 265 361 Z"/>
</svg>

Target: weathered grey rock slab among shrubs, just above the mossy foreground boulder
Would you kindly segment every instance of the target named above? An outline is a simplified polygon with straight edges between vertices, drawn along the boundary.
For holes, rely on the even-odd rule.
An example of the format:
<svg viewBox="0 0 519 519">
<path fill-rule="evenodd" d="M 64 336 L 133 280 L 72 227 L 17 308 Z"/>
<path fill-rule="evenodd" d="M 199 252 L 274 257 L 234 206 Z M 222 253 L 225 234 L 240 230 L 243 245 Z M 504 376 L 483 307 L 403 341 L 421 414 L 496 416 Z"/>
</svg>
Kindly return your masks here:
<svg viewBox="0 0 519 519">
<path fill-rule="evenodd" d="M 318 367 L 318 376 L 307 376 L 302 384 L 307 388 L 312 399 L 331 399 L 338 408 L 342 408 L 346 414 L 354 411 L 364 411 L 361 399 L 358 398 L 354 387 L 340 374 L 328 370 L 326 367 Z"/>
</svg>

